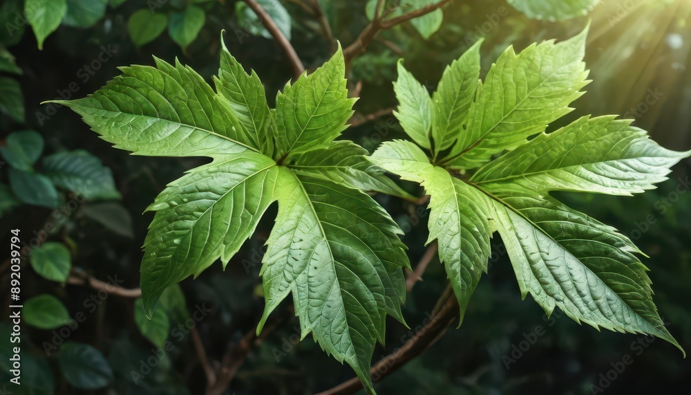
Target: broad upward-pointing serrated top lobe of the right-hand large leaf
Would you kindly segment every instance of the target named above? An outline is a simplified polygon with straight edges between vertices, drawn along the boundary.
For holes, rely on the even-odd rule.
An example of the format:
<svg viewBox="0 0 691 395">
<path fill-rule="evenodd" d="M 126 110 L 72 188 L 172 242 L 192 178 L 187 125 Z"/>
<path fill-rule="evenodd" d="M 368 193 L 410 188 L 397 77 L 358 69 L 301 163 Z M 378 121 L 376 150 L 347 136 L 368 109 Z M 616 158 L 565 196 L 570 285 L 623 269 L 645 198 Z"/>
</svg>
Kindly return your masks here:
<svg viewBox="0 0 691 395">
<path fill-rule="evenodd" d="M 504 51 L 471 105 L 466 130 L 442 163 L 473 169 L 569 113 L 569 103 L 587 84 L 586 36 L 587 28 L 565 42 L 533 44 L 519 55 L 511 47 Z"/>
</svg>

